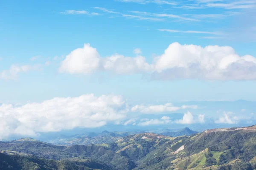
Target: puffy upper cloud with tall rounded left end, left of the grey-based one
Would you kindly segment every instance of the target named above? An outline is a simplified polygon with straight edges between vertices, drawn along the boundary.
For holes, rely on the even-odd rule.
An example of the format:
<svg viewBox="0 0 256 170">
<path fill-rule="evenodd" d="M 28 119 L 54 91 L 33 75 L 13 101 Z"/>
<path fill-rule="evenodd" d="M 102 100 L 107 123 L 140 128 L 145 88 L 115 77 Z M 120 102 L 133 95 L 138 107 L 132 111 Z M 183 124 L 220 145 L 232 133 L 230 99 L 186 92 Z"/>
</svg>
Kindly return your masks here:
<svg viewBox="0 0 256 170">
<path fill-rule="evenodd" d="M 90 74 L 96 71 L 109 71 L 116 74 L 132 74 L 151 71 L 152 66 L 145 62 L 145 57 L 124 57 L 114 54 L 111 57 L 100 57 L 96 48 L 84 44 L 67 55 L 61 62 L 60 72 L 70 74 Z"/>
</svg>

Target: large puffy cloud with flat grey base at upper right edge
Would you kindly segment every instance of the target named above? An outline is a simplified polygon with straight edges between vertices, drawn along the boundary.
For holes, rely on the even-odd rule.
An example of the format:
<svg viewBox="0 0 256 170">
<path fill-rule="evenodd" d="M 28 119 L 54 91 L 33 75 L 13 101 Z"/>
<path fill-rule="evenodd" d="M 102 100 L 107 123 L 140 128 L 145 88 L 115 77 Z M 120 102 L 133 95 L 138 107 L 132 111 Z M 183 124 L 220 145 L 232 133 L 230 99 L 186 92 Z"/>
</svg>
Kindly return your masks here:
<svg viewBox="0 0 256 170">
<path fill-rule="evenodd" d="M 229 46 L 169 45 L 155 62 L 153 79 L 256 79 L 256 58 L 240 57 Z"/>
</svg>

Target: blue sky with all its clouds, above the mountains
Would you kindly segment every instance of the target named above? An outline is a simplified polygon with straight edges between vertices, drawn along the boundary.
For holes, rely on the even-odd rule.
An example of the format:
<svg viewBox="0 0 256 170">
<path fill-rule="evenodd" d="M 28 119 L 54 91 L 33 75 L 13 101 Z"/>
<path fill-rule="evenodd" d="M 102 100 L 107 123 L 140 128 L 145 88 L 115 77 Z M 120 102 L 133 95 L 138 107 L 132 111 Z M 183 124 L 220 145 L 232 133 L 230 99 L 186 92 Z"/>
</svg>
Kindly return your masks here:
<svg viewBox="0 0 256 170">
<path fill-rule="evenodd" d="M 252 125 L 255 8 L 1 0 L 0 140 L 108 125 Z"/>
</svg>

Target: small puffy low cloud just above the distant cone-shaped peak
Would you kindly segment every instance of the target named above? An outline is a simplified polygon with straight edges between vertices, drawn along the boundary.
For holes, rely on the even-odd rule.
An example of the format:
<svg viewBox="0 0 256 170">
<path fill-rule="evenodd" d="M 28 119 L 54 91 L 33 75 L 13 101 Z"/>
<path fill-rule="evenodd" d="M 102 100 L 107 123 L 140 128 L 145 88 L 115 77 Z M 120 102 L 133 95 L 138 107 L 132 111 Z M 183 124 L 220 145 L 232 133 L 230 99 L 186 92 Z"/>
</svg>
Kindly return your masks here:
<svg viewBox="0 0 256 170">
<path fill-rule="evenodd" d="M 183 118 L 180 120 L 175 120 L 178 124 L 193 124 L 193 123 L 204 123 L 204 115 L 199 114 L 198 116 L 194 116 L 192 113 L 187 112 L 183 115 Z"/>
</svg>

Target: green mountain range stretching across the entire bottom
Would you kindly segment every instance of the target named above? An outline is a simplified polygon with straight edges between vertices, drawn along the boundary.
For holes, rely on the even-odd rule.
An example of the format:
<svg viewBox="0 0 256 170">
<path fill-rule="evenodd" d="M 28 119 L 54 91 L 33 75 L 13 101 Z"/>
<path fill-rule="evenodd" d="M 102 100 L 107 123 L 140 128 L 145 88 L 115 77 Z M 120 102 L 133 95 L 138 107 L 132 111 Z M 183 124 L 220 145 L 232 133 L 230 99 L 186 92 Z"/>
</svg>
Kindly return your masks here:
<svg viewBox="0 0 256 170">
<path fill-rule="evenodd" d="M 102 135 L 113 136 L 107 131 Z M 140 133 L 98 145 L 54 145 L 26 138 L 1 142 L 0 150 L 0 170 L 254 170 L 256 125 L 177 137 Z"/>
</svg>

